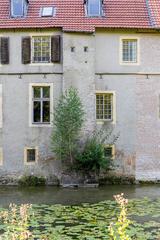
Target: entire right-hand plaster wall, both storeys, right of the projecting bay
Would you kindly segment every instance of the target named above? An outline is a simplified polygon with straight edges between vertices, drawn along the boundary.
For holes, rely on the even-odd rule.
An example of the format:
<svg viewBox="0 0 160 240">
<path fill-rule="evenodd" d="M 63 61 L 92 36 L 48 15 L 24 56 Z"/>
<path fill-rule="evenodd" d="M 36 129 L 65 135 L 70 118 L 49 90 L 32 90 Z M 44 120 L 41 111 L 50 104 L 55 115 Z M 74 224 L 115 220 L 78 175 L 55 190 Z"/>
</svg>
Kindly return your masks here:
<svg viewBox="0 0 160 240">
<path fill-rule="evenodd" d="M 139 39 L 139 65 L 120 64 L 120 38 L 126 36 Z M 128 155 L 127 162 L 133 162 L 131 169 L 135 168 L 137 180 L 160 180 L 159 42 L 159 34 L 104 31 L 96 34 L 96 72 L 106 73 L 102 79 L 97 76 L 96 88 L 116 91 L 115 129 L 120 131 L 116 147 L 124 156 Z M 138 75 L 141 73 L 144 75 Z M 125 162 L 124 156 L 121 163 Z M 126 162 L 124 166 L 126 169 Z"/>
</svg>

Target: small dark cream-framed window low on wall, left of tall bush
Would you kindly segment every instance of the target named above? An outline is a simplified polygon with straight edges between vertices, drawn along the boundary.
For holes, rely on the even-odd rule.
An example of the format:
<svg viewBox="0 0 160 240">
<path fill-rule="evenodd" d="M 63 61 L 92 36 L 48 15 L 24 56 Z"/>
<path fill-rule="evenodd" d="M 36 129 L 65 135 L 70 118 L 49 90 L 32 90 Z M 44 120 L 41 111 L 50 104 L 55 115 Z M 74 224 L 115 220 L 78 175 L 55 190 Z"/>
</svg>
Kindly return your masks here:
<svg viewBox="0 0 160 240">
<path fill-rule="evenodd" d="M 24 162 L 26 164 L 36 163 L 38 158 L 37 148 L 25 148 L 24 149 Z"/>
</svg>

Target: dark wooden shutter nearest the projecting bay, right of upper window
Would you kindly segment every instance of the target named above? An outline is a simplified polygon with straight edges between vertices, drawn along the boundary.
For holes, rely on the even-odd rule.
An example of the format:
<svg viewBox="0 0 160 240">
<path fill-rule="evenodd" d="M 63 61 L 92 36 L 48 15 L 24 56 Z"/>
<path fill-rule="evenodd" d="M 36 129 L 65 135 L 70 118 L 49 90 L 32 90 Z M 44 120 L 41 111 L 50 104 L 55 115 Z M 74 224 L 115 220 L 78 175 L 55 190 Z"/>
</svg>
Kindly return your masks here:
<svg viewBox="0 0 160 240">
<path fill-rule="evenodd" d="M 51 62 L 60 63 L 61 61 L 61 36 L 56 35 L 51 38 Z"/>
</svg>

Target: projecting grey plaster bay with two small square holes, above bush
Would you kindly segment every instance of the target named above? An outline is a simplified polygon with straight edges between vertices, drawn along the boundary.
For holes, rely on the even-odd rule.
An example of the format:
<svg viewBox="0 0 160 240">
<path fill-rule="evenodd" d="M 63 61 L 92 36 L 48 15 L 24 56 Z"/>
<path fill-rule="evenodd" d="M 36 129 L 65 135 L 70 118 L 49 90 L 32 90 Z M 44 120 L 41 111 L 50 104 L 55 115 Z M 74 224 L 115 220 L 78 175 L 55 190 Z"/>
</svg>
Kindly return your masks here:
<svg viewBox="0 0 160 240">
<path fill-rule="evenodd" d="M 74 52 L 71 52 L 74 47 Z M 84 47 L 88 51 L 84 52 Z M 85 131 L 95 125 L 95 37 L 91 34 L 63 35 L 63 89 L 78 89 L 85 112 Z"/>
</svg>

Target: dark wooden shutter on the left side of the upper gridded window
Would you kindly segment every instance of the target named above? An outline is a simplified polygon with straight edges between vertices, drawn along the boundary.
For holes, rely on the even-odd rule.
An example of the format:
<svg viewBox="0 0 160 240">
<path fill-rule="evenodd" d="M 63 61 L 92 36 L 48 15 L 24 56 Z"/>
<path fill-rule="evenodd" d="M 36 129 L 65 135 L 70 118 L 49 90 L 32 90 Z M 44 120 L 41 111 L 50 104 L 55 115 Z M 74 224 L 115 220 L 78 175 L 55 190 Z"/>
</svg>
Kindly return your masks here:
<svg viewBox="0 0 160 240">
<path fill-rule="evenodd" d="M 28 64 L 31 62 L 31 38 L 22 38 L 22 63 Z"/>
</svg>

